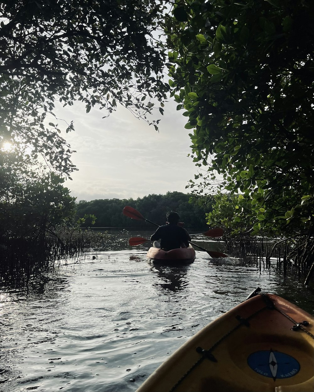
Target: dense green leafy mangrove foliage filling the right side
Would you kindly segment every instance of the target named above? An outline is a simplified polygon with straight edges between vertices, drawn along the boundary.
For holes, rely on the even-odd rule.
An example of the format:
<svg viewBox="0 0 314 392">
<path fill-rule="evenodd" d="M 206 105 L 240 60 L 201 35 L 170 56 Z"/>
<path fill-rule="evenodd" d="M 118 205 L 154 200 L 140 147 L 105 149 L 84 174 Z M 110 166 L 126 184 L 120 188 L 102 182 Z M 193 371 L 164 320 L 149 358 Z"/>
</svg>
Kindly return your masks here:
<svg viewBox="0 0 314 392">
<path fill-rule="evenodd" d="M 218 172 L 221 189 L 250 203 L 245 219 L 234 210 L 238 228 L 303 236 L 312 270 L 313 21 L 312 0 L 176 0 L 164 25 L 171 95 L 207 171 L 192 193 Z"/>
</svg>

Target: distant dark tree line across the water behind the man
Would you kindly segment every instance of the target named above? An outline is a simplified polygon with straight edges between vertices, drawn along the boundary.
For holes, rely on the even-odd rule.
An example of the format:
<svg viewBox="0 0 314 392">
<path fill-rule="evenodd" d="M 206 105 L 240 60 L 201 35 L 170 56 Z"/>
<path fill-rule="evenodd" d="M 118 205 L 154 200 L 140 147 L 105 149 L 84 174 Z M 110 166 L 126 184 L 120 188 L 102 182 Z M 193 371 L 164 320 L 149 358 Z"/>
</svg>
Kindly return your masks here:
<svg viewBox="0 0 314 392">
<path fill-rule="evenodd" d="M 77 218 L 95 216 L 96 222 L 93 227 L 146 227 L 149 224 L 130 219 L 122 214 L 126 205 L 137 209 L 150 221 L 158 225 L 164 225 L 166 215 L 170 211 L 176 211 L 180 220 L 187 229 L 206 228 L 206 213 L 212 211 L 212 196 L 206 196 L 202 203 L 190 200 L 190 194 L 182 192 L 167 192 L 166 194 L 150 194 L 136 200 L 130 199 L 99 199 L 92 201 L 79 201 L 77 203 Z M 206 199 L 206 200 L 205 200 Z M 85 225 L 89 225 L 86 219 Z"/>
</svg>

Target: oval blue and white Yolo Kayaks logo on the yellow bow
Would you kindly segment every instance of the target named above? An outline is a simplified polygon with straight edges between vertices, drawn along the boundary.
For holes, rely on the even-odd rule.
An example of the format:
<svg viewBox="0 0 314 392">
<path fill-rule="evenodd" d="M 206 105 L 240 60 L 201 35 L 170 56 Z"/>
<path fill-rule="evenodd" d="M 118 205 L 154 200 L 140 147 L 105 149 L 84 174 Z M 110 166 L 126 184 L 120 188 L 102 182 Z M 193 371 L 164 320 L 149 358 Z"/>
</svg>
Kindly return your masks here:
<svg viewBox="0 0 314 392">
<path fill-rule="evenodd" d="M 265 350 L 256 351 L 248 356 L 248 365 L 254 372 L 261 376 L 288 378 L 300 370 L 299 362 L 284 352 Z"/>
</svg>

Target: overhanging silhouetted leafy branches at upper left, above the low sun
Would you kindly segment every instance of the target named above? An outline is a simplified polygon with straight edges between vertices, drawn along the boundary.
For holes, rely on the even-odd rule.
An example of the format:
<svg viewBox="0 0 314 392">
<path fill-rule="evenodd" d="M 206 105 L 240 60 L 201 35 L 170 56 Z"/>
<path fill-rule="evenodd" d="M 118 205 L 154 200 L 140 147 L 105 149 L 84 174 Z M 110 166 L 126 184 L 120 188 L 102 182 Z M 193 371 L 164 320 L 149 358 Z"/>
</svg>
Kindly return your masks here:
<svg viewBox="0 0 314 392">
<path fill-rule="evenodd" d="M 72 151 L 60 132 L 73 123 L 58 125 L 55 102 L 82 101 L 87 113 L 98 105 L 104 116 L 120 103 L 146 119 L 151 98 L 162 102 L 169 89 L 153 36 L 163 9 L 155 0 L 1 2 L 0 148 L 29 145 L 33 164 L 41 156 L 69 176 Z"/>
</svg>

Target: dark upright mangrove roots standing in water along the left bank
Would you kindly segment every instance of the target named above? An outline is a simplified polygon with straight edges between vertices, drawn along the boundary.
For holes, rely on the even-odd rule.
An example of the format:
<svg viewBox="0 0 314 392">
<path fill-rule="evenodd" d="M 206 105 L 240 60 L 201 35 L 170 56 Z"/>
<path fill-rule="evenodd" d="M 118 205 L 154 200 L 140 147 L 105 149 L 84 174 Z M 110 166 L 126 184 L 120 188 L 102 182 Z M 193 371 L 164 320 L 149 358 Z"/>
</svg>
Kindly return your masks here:
<svg viewBox="0 0 314 392">
<path fill-rule="evenodd" d="M 0 290 L 36 286 L 53 269 L 79 264 L 92 246 L 107 238 L 106 232 L 79 228 L 64 228 L 56 236 L 2 237 Z"/>
</svg>

